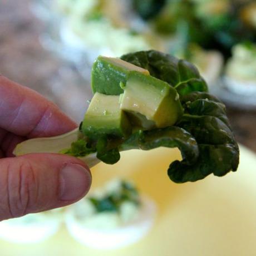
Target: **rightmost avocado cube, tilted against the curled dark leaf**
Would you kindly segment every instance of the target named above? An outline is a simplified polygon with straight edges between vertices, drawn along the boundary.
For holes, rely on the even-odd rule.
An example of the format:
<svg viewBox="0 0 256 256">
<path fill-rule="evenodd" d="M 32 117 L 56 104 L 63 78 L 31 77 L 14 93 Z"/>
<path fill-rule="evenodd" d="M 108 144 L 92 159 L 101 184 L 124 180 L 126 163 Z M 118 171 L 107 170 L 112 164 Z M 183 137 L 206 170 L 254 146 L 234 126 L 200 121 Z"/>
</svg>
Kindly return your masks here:
<svg viewBox="0 0 256 256">
<path fill-rule="evenodd" d="M 120 96 L 121 109 L 144 115 L 156 127 L 174 125 L 183 115 L 179 94 L 168 83 L 132 71 Z"/>
</svg>

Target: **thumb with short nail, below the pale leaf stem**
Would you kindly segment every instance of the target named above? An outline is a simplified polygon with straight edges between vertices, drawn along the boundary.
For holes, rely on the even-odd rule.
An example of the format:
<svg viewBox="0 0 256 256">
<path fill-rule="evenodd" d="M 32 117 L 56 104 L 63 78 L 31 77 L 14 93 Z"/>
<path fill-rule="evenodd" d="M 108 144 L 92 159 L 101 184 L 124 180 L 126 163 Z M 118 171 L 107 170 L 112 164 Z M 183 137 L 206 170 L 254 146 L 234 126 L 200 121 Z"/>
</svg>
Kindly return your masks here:
<svg viewBox="0 0 256 256">
<path fill-rule="evenodd" d="M 0 221 L 75 203 L 90 185 L 90 170 L 72 156 L 28 154 L 1 159 Z"/>
</svg>

